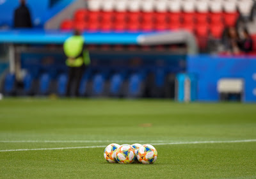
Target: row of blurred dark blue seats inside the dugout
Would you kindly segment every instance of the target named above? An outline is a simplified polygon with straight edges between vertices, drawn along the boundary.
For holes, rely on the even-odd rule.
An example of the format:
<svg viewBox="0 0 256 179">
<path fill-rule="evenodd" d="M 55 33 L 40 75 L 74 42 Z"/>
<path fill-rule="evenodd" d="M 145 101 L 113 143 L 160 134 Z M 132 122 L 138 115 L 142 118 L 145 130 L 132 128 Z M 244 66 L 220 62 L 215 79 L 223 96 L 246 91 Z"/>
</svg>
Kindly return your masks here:
<svg viewBox="0 0 256 179">
<path fill-rule="evenodd" d="M 158 69 L 154 72 L 153 82 L 148 85 L 147 70 L 134 72 L 114 72 L 108 70 L 92 73 L 92 70 L 86 70 L 79 86 L 79 95 L 81 97 L 109 96 L 109 97 L 143 97 L 145 88 L 159 91 L 164 88 L 166 75 L 164 70 Z M 48 95 L 56 93 L 59 96 L 65 96 L 68 76 L 62 73 L 56 79 L 52 79 L 51 74 L 44 73 L 38 79 L 30 73 L 27 73 L 23 79 L 23 86 L 19 94 L 22 95 Z M 4 79 L 3 93 L 13 95 L 17 91 L 15 85 L 15 75 L 7 74 Z"/>
</svg>

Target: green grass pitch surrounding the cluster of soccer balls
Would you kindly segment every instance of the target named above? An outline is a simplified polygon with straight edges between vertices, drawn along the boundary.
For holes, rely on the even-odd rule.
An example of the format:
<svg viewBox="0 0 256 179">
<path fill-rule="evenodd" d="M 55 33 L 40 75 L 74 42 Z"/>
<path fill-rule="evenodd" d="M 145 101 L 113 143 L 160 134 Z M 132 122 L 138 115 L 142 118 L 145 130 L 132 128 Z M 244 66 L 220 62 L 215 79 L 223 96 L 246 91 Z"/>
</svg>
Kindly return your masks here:
<svg viewBox="0 0 256 179">
<path fill-rule="evenodd" d="M 255 139 L 255 104 L 5 98 L 0 178 L 256 178 Z M 114 142 L 154 144 L 157 161 L 109 164 Z"/>
</svg>

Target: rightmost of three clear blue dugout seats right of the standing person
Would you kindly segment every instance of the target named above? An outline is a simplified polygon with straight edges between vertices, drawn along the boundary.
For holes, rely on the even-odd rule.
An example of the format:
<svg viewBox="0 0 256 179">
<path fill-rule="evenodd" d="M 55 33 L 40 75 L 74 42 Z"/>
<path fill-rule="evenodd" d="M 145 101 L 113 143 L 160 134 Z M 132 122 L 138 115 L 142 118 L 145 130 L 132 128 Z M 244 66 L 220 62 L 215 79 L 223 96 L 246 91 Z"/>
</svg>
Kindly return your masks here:
<svg viewBox="0 0 256 179">
<path fill-rule="evenodd" d="M 141 97 L 143 95 L 143 81 L 141 75 L 133 74 L 128 81 L 127 97 Z"/>
</svg>

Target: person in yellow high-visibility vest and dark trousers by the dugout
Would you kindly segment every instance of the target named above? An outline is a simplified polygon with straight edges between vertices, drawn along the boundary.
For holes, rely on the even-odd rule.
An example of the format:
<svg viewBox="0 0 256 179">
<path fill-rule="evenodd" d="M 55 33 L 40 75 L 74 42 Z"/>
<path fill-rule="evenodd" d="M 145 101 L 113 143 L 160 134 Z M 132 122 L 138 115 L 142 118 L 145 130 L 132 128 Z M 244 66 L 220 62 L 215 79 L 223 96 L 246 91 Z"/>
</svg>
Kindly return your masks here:
<svg viewBox="0 0 256 179">
<path fill-rule="evenodd" d="M 63 49 L 67 56 L 66 65 L 68 66 L 67 97 L 71 95 L 72 84 L 76 89 L 76 96 L 79 95 L 79 84 L 83 76 L 85 67 L 90 65 L 89 52 L 84 48 L 84 38 L 81 32 L 74 31 L 74 35 L 68 38 Z"/>
</svg>

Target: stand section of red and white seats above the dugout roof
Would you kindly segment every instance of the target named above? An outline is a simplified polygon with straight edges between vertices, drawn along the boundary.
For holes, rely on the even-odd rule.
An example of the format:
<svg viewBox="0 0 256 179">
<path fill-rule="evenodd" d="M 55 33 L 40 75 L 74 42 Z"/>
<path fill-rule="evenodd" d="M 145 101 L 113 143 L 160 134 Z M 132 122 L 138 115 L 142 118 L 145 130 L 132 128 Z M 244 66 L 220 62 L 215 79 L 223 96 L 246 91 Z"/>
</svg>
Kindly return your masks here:
<svg viewBox="0 0 256 179">
<path fill-rule="evenodd" d="M 60 28 L 107 32 L 186 29 L 205 38 L 198 40 L 204 49 L 209 35 L 220 39 L 225 27 L 236 26 L 240 13 L 248 15 L 253 1 L 243 2 L 246 8 L 237 0 L 88 0 L 87 8 L 77 10 L 73 22 L 63 20 Z"/>
</svg>

